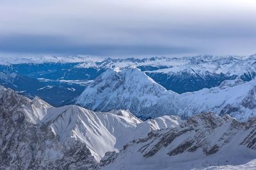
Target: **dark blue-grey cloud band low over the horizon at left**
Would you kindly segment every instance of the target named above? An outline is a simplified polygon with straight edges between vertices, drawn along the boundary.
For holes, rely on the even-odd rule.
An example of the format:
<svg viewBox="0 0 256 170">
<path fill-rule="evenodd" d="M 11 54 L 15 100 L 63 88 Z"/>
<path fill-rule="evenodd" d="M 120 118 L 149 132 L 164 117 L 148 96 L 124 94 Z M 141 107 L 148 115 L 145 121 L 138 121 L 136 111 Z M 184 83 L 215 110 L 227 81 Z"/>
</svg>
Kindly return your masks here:
<svg viewBox="0 0 256 170">
<path fill-rule="evenodd" d="M 157 45 L 74 44 L 59 36 L 12 35 L 0 37 L 0 51 L 13 53 L 62 53 L 101 56 L 168 55 L 195 52 L 195 48 Z"/>
</svg>

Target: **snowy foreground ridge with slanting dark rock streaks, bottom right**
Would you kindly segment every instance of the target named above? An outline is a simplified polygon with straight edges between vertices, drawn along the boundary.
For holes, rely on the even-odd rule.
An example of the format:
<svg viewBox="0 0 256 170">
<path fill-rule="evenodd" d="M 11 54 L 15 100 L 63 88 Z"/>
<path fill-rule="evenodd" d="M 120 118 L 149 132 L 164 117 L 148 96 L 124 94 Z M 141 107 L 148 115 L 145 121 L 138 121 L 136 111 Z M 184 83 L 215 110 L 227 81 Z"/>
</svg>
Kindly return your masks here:
<svg viewBox="0 0 256 170">
<path fill-rule="evenodd" d="M 109 152 L 100 169 L 255 169 L 255 132 L 255 118 L 241 123 L 228 115 L 196 115 L 131 141 L 119 153 Z"/>
</svg>

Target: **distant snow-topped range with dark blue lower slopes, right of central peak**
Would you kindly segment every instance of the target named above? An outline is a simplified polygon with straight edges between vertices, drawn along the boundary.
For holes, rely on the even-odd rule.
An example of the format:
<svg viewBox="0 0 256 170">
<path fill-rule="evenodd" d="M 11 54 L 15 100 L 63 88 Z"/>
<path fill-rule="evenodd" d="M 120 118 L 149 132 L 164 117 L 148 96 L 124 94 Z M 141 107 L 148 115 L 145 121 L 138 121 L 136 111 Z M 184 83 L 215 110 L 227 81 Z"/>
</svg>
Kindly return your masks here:
<svg viewBox="0 0 256 170">
<path fill-rule="evenodd" d="M 255 78 L 255 55 L 250 57 L 198 56 L 178 59 L 168 68 L 145 71 L 157 83 L 178 93 L 220 85 L 224 80 Z"/>
</svg>

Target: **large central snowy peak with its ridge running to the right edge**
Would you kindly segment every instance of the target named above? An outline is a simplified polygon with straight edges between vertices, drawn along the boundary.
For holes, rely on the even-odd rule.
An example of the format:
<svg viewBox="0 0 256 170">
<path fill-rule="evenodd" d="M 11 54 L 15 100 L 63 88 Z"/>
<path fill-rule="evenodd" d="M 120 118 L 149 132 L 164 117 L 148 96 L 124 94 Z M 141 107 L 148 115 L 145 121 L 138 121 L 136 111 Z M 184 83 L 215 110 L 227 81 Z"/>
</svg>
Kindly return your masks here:
<svg viewBox="0 0 256 170">
<path fill-rule="evenodd" d="M 96 111 L 131 110 L 141 118 L 214 111 L 246 120 L 256 114 L 256 80 L 225 80 L 219 87 L 177 94 L 166 90 L 136 67 L 102 73 L 76 103 Z"/>
</svg>

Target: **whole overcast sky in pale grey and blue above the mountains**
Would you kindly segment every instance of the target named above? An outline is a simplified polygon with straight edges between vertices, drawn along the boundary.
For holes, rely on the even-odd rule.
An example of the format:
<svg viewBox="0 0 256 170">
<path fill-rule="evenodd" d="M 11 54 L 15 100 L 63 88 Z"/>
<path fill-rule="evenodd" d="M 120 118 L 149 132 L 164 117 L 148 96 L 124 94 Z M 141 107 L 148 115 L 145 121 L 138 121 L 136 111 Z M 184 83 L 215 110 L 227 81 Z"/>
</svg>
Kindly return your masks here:
<svg viewBox="0 0 256 170">
<path fill-rule="evenodd" d="M 0 0 L 0 53 L 256 53 L 255 0 Z"/>
</svg>

